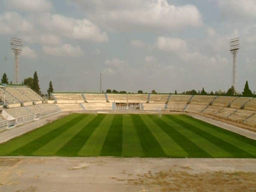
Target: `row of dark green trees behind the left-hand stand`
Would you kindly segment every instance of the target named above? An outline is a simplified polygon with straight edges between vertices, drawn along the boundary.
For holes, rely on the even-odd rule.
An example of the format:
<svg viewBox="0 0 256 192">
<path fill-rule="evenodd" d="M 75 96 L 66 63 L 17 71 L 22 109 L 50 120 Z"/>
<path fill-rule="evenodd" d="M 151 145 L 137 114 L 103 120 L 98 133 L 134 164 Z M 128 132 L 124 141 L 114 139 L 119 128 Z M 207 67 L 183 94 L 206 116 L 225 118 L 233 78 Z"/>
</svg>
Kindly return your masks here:
<svg viewBox="0 0 256 192">
<path fill-rule="evenodd" d="M 6 73 L 4 73 L 4 75 L 3 75 L 2 79 L 1 79 L 1 82 L 4 83 L 4 84 L 9 84 L 9 79 L 8 79 Z M 10 82 L 10 84 L 12 84 L 12 81 Z M 37 94 L 41 95 L 40 86 L 39 86 L 39 79 L 38 79 L 36 71 L 34 73 L 33 78 L 32 77 L 25 78 L 22 81 L 22 84 L 26 84 L 26 86 L 31 88 Z M 47 90 L 47 93 L 48 93 L 49 96 L 50 96 L 51 93 L 53 93 L 52 81 L 50 81 L 50 83 L 49 83 L 49 88 Z"/>
</svg>

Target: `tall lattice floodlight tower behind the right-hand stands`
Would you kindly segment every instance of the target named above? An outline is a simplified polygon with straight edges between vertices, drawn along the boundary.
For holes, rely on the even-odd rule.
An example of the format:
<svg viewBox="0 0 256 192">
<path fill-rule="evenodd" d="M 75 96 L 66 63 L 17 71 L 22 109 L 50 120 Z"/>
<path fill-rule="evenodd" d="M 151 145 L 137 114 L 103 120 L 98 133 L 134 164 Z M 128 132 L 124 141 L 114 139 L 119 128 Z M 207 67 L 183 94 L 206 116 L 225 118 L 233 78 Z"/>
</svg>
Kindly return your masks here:
<svg viewBox="0 0 256 192">
<path fill-rule="evenodd" d="M 229 42 L 230 45 L 230 52 L 233 56 L 233 67 L 232 67 L 232 86 L 233 86 L 233 93 L 236 93 L 236 85 L 237 85 L 237 54 L 240 49 L 240 38 L 233 38 Z"/>
</svg>

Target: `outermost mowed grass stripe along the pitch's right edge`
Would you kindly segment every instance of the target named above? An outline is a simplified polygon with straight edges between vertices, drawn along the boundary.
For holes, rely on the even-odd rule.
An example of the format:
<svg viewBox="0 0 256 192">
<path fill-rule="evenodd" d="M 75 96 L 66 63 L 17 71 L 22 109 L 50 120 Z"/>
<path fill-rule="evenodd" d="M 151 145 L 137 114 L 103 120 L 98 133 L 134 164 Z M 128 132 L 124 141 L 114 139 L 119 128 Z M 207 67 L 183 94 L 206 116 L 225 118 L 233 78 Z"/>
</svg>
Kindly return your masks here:
<svg viewBox="0 0 256 192">
<path fill-rule="evenodd" d="M 195 119 L 193 117 L 185 116 L 177 116 L 177 118 L 181 118 L 190 124 L 197 126 L 200 129 L 203 129 L 207 133 L 215 135 L 216 137 L 237 146 L 241 150 L 244 150 L 254 156 L 256 156 L 256 141 L 245 136 L 239 135 L 237 133 L 233 133 L 228 130 L 224 130 L 218 126 L 212 125 L 210 123 L 206 123 L 199 119 Z"/>
</svg>

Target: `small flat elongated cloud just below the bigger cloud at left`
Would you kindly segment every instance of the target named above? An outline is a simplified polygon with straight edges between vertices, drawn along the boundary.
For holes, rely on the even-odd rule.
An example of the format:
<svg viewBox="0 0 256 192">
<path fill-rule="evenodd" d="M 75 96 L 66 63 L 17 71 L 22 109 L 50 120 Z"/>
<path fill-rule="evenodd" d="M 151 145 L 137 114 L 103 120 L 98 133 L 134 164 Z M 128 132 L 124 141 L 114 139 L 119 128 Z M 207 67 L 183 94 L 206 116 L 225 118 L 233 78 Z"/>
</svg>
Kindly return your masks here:
<svg viewBox="0 0 256 192">
<path fill-rule="evenodd" d="M 80 57 L 84 54 L 79 46 L 73 47 L 70 44 L 63 44 L 60 47 L 43 46 L 45 54 L 54 56 Z"/>
</svg>

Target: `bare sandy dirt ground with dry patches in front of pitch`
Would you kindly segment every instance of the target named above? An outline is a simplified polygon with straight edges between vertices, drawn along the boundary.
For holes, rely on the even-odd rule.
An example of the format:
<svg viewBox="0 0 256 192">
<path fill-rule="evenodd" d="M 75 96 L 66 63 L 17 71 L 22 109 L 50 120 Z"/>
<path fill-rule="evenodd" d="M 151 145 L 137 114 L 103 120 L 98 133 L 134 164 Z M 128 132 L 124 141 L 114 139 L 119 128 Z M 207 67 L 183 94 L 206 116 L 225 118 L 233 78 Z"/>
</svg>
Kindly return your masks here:
<svg viewBox="0 0 256 192">
<path fill-rule="evenodd" d="M 2 157 L 0 191 L 256 191 L 256 159 Z"/>
</svg>

